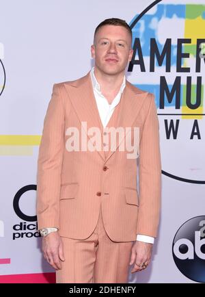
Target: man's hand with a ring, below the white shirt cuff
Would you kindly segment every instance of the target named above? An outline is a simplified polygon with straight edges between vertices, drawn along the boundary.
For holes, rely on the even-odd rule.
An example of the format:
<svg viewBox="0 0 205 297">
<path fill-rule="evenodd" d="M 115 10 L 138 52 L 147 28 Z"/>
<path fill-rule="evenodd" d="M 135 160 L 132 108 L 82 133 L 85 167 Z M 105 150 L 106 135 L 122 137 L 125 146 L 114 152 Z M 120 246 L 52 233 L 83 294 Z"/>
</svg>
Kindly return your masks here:
<svg viewBox="0 0 205 297">
<path fill-rule="evenodd" d="M 131 273 L 139 272 L 149 265 L 152 255 L 152 246 L 153 244 L 149 244 L 147 242 L 139 242 L 138 240 L 136 240 L 132 247 L 130 265 L 135 263 L 135 266 L 133 267 Z"/>
</svg>

